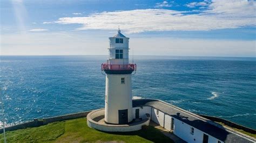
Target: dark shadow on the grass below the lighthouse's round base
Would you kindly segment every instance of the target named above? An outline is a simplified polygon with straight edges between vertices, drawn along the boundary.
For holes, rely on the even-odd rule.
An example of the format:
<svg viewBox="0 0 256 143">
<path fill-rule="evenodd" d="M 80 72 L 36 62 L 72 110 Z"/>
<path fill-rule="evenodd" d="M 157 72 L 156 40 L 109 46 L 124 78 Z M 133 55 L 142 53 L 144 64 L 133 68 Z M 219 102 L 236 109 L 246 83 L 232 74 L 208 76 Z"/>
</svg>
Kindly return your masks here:
<svg viewBox="0 0 256 143">
<path fill-rule="evenodd" d="M 103 132 L 103 131 L 100 131 Z M 104 132 L 108 134 L 117 134 L 117 135 L 138 135 L 146 140 L 152 142 L 174 142 L 169 137 L 166 137 L 161 133 L 157 128 L 153 126 L 143 126 L 142 130 L 133 131 L 133 132 Z"/>
</svg>

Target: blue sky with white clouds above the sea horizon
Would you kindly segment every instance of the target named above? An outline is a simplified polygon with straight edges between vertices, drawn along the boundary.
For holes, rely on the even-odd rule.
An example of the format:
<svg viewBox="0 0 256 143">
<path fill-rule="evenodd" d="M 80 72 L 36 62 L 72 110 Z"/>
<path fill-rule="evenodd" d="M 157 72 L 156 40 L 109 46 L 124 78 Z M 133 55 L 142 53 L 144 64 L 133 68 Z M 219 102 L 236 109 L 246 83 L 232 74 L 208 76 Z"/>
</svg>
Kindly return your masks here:
<svg viewBox="0 0 256 143">
<path fill-rule="evenodd" d="M 134 55 L 256 57 L 256 1 L 0 3 L 1 55 L 107 55 L 120 27 Z"/>
</svg>

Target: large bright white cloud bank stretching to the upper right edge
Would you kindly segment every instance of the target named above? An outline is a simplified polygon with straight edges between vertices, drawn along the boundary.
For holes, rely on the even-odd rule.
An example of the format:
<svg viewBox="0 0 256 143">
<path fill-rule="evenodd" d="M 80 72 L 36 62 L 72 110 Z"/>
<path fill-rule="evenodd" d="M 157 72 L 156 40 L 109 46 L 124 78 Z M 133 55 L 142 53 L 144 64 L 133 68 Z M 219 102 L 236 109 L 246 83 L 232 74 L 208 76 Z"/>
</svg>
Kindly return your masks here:
<svg viewBox="0 0 256 143">
<path fill-rule="evenodd" d="M 201 4 L 203 5 L 203 4 Z M 81 24 L 76 30 L 116 30 L 120 25 L 127 33 L 146 31 L 208 31 L 256 26 L 253 14 L 256 2 L 212 1 L 206 9 L 176 11 L 139 9 L 93 13 L 86 17 L 62 17 L 55 23 Z"/>
</svg>

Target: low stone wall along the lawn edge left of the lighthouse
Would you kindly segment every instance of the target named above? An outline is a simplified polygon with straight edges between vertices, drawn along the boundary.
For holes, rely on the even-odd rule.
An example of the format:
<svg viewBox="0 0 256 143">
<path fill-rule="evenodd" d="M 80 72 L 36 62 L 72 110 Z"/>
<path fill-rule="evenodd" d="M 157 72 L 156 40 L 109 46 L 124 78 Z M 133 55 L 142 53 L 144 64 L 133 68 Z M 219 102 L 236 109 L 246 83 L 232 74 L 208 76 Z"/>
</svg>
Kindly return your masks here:
<svg viewBox="0 0 256 143">
<path fill-rule="evenodd" d="M 24 128 L 28 128 L 28 127 L 38 127 L 38 126 L 42 126 L 42 125 L 47 125 L 47 124 L 55 122 L 55 121 L 83 118 L 83 117 L 86 117 L 87 114 L 90 112 L 91 111 L 85 111 L 85 112 L 72 113 L 72 114 L 63 115 L 63 116 L 56 116 L 56 117 L 43 118 L 43 119 L 34 119 L 32 121 L 27 121 L 25 123 L 5 127 L 5 131 L 14 131 L 14 130 L 24 129 Z M 3 128 L 0 129 L 0 133 L 3 133 Z"/>
</svg>

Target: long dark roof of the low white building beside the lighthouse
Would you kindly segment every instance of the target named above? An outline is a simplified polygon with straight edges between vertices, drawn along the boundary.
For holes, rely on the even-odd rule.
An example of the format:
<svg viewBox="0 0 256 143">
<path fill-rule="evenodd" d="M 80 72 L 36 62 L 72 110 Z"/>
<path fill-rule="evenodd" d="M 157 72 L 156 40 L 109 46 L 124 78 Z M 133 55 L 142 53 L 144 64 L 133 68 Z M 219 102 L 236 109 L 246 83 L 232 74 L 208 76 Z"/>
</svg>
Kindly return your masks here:
<svg viewBox="0 0 256 143">
<path fill-rule="evenodd" d="M 180 109 L 177 106 L 159 101 L 157 99 L 136 99 L 132 101 L 132 106 L 152 106 L 153 108 L 156 108 L 170 115 L 171 117 L 183 121 L 184 123 L 224 142 L 252 142 L 246 139 L 246 137 L 240 137 L 240 135 L 227 131 L 225 127 L 214 123 L 211 120 L 205 119 L 194 113 Z"/>
</svg>

